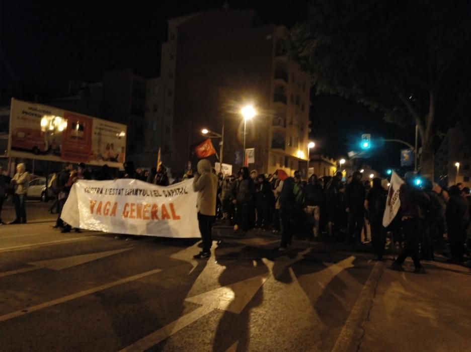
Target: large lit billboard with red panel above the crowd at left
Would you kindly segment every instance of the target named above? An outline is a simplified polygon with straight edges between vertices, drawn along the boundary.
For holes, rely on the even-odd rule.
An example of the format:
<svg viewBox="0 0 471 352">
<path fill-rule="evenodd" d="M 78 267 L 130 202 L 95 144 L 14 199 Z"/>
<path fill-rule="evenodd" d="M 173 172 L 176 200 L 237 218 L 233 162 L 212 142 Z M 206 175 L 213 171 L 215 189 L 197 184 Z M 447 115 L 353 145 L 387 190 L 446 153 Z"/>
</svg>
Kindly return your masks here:
<svg viewBox="0 0 471 352">
<path fill-rule="evenodd" d="M 126 126 L 12 99 L 8 155 L 121 167 Z"/>
</svg>

